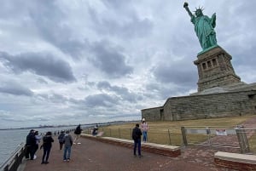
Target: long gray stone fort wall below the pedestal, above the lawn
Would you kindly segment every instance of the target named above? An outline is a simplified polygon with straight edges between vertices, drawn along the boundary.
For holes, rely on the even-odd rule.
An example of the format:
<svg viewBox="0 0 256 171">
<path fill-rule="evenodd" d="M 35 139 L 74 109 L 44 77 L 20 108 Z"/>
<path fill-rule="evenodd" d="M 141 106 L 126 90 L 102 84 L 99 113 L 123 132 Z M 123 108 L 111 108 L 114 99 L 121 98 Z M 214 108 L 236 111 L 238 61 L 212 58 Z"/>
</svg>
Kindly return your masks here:
<svg viewBox="0 0 256 171">
<path fill-rule="evenodd" d="M 256 114 L 256 89 L 172 97 L 165 105 L 143 109 L 148 121 L 177 121 Z"/>
</svg>

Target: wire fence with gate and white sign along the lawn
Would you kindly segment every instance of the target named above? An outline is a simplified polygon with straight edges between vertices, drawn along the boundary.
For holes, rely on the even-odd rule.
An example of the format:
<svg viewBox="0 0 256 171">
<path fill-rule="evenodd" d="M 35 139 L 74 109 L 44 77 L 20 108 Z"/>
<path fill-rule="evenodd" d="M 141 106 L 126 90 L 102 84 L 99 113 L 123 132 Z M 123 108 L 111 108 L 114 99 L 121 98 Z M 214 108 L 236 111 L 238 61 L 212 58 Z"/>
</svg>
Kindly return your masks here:
<svg viewBox="0 0 256 171">
<path fill-rule="evenodd" d="M 103 136 L 132 140 L 132 128 L 102 127 L 98 131 L 103 131 Z M 85 129 L 84 132 L 91 134 L 91 128 Z M 206 145 L 223 148 L 224 151 L 230 149 L 228 151 L 256 154 L 256 128 L 183 126 L 181 128 L 150 129 L 148 142 L 177 146 Z"/>
</svg>

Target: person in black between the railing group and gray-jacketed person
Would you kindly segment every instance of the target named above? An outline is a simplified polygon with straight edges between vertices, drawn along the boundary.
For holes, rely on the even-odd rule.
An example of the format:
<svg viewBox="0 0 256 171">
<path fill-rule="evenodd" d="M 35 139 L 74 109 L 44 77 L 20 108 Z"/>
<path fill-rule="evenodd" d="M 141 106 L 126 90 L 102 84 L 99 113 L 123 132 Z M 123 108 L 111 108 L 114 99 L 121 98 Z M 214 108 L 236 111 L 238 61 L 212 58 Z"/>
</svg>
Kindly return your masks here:
<svg viewBox="0 0 256 171">
<path fill-rule="evenodd" d="M 54 142 L 52 136 L 51 136 L 51 132 L 47 132 L 44 135 L 43 138 L 44 144 L 43 144 L 43 148 L 44 148 L 44 154 L 43 154 L 43 158 L 42 158 L 42 162 L 41 164 L 48 164 L 48 159 L 49 159 L 49 152 L 52 146 L 52 142 Z"/>
</svg>

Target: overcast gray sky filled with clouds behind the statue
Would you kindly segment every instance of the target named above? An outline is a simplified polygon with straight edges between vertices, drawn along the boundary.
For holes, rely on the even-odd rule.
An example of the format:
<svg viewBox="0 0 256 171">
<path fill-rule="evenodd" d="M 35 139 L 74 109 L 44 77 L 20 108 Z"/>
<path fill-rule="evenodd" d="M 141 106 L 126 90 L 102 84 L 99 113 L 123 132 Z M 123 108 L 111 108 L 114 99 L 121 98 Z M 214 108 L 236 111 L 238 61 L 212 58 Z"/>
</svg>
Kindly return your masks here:
<svg viewBox="0 0 256 171">
<path fill-rule="evenodd" d="M 1 0 L 0 128 L 141 119 L 197 91 L 201 52 L 180 0 Z M 190 0 L 256 82 L 256 1 Z"/>
</svg>

